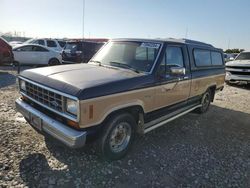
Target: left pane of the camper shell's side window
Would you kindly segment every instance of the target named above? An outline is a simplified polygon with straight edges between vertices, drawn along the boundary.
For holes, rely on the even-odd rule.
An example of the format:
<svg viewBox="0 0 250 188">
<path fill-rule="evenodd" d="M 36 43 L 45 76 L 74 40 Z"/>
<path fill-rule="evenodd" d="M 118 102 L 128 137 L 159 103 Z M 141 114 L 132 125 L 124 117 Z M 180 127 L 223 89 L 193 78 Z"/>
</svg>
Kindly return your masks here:
<svg viewBox="0 0 250 188">
<path fill-rule="evenodd" d="M 197 67 L 207 67 L 212 65 L 211 55 L 209 50 L 194 50 L 194 59 Z"/>
</svg>

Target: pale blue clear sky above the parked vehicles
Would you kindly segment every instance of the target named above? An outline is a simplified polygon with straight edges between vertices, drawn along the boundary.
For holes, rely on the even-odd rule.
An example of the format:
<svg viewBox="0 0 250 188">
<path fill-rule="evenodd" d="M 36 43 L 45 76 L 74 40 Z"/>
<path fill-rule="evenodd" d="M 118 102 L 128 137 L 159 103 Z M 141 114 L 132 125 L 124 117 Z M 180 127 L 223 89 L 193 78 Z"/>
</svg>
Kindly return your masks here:
<svg viewBox="0 0 250 188">
<path fill-rule="evenodd" d="M 250 50 L 249 0 L 85 0 L 84 9 L 83 4 L 0 0 L 0 32 L 49 38 L 81 38 L 83 33 L 92 38 L 189 38 Z"/>
</svg>

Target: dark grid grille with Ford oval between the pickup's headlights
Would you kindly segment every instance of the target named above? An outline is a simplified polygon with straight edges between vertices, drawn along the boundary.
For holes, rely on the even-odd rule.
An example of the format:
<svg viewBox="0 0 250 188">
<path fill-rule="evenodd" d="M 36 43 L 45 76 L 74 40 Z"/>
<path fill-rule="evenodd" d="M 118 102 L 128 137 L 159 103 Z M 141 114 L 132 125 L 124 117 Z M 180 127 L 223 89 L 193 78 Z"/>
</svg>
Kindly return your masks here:
<svg viewBox="0 0 250 188">
<path fill-rule="evenodd" d="M 26 94 L 45 106 L 63 112 L 63 96 L 32 83 L 26 82 Z"/>
</svg>

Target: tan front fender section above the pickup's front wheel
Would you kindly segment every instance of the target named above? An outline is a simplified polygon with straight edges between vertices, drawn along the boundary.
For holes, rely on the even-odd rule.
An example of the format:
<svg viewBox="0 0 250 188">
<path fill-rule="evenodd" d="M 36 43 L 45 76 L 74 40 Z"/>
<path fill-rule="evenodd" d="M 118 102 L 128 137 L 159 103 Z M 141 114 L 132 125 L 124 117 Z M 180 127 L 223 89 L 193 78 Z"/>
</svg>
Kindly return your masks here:
<svg viewBox="0 0 250 188">
<path fill-rule="evenodd" d="M 89 127 L 101 123 L 111 112 L 134 105 L 142 106 L 144 112 L 150 111 L 155 105 L 155 88 L 140 89 L 86 101 L 80 101 L 81 127 Z M 89 119 L 89 106 L 93 105 L 93 118 Z"/>
</svg>

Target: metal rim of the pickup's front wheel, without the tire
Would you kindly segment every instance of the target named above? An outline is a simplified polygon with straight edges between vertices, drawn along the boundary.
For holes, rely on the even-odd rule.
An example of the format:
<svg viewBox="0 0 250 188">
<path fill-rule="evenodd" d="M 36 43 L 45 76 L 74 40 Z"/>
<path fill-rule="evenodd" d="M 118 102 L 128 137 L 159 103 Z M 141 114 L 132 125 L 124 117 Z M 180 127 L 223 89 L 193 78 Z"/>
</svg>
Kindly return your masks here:
<svg viewBox="0 0 250 188">
<path fill-rule="evenodd" d="M 131 126 L 127 122 L 119 123 L 111 132 L 109 145 L 114 153 L 125 150 L 131 138 Z"/>
</svg>

